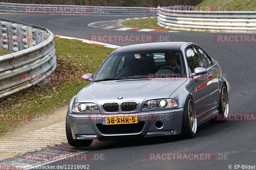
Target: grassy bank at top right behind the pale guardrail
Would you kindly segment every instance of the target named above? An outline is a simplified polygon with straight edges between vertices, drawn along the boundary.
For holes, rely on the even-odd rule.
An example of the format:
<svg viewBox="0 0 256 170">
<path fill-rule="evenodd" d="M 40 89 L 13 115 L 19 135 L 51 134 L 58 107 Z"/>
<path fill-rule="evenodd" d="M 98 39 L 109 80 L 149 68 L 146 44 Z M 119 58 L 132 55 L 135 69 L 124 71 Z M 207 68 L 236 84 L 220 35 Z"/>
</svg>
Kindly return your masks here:
<svg viewBox="0 0 256 170">
<path fill-rule="evenodd" d="M 255 0 L 204 0 L 198 6 L 213 6 L 216 11 L 255 11 Z M 219 10 L 218 10 L 219 9 Z M 223 10 L 222 10 L 223 9 Z"/>
</svg>

